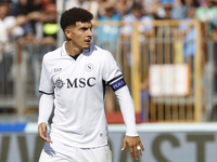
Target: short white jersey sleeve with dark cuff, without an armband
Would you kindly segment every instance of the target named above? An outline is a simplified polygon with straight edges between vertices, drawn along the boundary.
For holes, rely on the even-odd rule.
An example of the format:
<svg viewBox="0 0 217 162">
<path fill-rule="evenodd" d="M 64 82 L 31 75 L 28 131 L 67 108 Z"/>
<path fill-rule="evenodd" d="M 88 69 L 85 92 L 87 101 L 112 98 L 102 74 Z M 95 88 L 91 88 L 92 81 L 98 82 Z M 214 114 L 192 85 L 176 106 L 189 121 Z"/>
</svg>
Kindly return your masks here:
<svg viewBox="0 0 217 162">
<path fill-rule="evenodd" d="M 53 94 L 53 82 L 51 80 L 51 75 L 47 67 L 46 57 L 43 56 L 42 59 L 42 68 L 41 68 L 41 76 L 40 76 L 40 84 L 39 84 L 39 92 L 46 94 Z"/>
</svg>

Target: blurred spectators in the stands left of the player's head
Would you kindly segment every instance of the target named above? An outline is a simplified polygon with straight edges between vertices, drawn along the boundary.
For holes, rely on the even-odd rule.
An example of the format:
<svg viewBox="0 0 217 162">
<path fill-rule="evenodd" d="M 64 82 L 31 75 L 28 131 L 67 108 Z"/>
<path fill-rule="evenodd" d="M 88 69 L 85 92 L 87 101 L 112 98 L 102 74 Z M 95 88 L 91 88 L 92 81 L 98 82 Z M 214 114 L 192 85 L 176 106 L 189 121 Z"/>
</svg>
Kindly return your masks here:
<svg viewBox="0 0 217 162">
<path fill-rule="evenodd" d="M 54 43 L 56 32 L 54 1 L 12 0 L 0 1 L 0 42 L 17 41 Z"/>
</svg>

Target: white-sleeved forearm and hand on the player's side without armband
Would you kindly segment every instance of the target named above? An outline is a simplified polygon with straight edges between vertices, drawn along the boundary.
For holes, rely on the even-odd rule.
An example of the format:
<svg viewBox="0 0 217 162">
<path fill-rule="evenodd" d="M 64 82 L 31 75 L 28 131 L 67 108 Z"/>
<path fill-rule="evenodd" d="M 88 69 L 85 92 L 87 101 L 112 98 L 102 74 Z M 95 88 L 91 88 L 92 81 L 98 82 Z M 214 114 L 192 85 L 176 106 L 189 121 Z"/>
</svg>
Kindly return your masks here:
<svg viewBox="0 0 217 162">
<path fill-rule="evenodd" d="M 48 138 L 47 125 L 53 109 L 53 95 L 42 94 L 39 100 L 38 134 L 47 143 L 52 143 Z"/>
</svg>

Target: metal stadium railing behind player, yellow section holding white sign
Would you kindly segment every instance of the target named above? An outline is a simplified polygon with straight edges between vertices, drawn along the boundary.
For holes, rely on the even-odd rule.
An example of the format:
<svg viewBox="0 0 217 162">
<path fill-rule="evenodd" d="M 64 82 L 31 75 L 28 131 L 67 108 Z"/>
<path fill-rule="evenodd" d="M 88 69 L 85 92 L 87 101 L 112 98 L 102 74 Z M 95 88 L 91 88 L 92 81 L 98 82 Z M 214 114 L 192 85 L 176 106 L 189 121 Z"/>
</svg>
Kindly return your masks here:
<svg viewBox="0 0 217 162">
<path fill-rule="evenodd" d="M 202 72 L 203 27 L 197 21 L 93 22 L 92 42 L 108 50 L 123 70 L 135 100 L 137 122 L 201 122 L 206 114 Z M 188 32 L 186 29 L 190 27 Z M 127 32 L 128 31 L 128 32 Z M 2 52 L 0 109 L 37 112 L 40 64 L 56 46 L 25 44 Z M 190 49 L 188 49 L 190 46 Z M 190 52 L 189 52 L 189 51 Z M 189 52 L 189 53 L 188 53 Z M 9 57 L 9 58 L 8 58 Z M 123 122 L 114 93 L 107 87 L 108 122 Z"/>
</svg>

